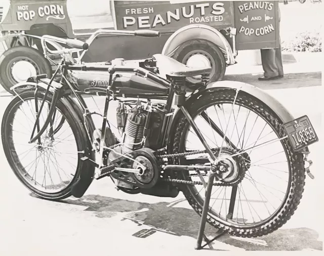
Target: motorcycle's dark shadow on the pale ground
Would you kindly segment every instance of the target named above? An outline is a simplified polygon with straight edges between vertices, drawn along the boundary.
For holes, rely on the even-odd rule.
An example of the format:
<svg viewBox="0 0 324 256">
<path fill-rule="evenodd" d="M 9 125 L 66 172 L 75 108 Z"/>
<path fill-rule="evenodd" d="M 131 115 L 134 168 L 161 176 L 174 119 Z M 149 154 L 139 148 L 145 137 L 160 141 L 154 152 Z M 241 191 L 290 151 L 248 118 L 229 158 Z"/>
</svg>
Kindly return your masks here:
<svg viewBox="0 0 324 256">
<path fill-rule="evenodd" d="M 98 218 L 111 218 L 125 214 L 120 221 L 131 220 L 143 229 L 166 232 L 175 236 L 189 236 L 196 239 L 200 217 L 193 209 L 174 207 L 184 199 L 174 203 L 143 203 L 100 195 L 86 195 L 78 199 L 65 199 L 61 203 L 86 206 L 86 211 L 93 211 Z M 152 228 L 152 229 L 150 229 Z M 212 238 L 217 229 L 206 225 L 205 234 Z M 136 234 L 133 234 L 136 236 Z M 140 238 L 139 238 L 140 239 Z M 322 250 L 322 242 L 317 241 L 318 233 L 309 228 L 279 229 L 269 235 L 258 238 L 237 238 L 223 235 L 217 241 L 245 250 Z M 203 243 L 204 244 L 204 243 Z M 213 245 L 213 247 L 216 247 Z M 217 250 L 216 248 L 205 247 Z"/>
</svg>

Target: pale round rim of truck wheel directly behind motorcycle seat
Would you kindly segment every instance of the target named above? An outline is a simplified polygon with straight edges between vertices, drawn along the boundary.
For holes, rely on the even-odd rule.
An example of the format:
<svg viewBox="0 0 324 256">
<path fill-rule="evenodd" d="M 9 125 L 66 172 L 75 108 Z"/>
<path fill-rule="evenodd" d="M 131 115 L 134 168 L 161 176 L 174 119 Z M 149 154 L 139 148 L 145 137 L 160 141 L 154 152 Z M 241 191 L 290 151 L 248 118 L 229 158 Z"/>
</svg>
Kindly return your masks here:
<svg viewBox="0 0 324 256">
<path fill-rule="evenodd" d="M 212 71 L 210 73 L 210 77 L 215 74 L 216 63 L 214 58 L 204 50 L 194 50 L 186 54 L 183 58 L 182 63 L 187 65 L 188 67 L 211 67 Z M 193 83 L 200 82 L 201 76 L 193 76 L 187 77 L 187 80 Z"/>
</svg>

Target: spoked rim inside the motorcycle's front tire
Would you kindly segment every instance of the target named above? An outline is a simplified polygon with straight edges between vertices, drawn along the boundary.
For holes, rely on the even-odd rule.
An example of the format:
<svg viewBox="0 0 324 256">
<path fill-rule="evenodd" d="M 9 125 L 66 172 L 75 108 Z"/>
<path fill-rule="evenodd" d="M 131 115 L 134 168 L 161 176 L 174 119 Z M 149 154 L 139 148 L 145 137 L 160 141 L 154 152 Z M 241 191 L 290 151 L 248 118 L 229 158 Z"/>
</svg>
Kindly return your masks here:
<svg viewBox="0 0 324 256">
<path fill-rule="evenodd" d="M 41 103 L 39 101 L 38 107 Z M 40 113 L 41 127 L 47 117 L 48 104 L 49 102 L 44 104 Z M 49 125 L 41 136 L 42 146 L 37 147 L 28 143 L 35 121 L 34 99 L 26 98 L 24 103 L 18 102 L 13 111 L 14 116 L 8 120 L 11 130 L 7 130 L 6 134 L 10 138 L 7 145 L 15 163 L 16 175 L 41 193 L 56 194 L 67 189 L 75 179 L 78 153 L 75 136 L 65 116 L 56 109 L 52 126 L 55 131 L 54 140 L 47 136 L 51 126 Z M 65 125 L 62 124 L 62 118 Z M 74 172 L 71 170 L 73 168 Z"/>
</svg>

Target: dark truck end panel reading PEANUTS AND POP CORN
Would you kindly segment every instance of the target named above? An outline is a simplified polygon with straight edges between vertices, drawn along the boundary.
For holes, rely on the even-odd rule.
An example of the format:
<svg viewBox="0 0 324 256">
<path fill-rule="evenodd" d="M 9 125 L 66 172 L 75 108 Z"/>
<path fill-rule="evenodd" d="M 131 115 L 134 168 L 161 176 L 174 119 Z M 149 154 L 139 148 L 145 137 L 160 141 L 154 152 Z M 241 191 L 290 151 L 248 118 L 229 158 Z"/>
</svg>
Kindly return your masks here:
<svg viewBox="0 0 324 256">
<path fill-rule="evenodd" d="M 273 47 L 278 36 L 276 1 L 235 2 L 234 13 L 237 41 L 241 44 L 253 43 L 251 49 L 258 42 L 265 41 L 269 41 L 269 48 Z"/>
</svg>

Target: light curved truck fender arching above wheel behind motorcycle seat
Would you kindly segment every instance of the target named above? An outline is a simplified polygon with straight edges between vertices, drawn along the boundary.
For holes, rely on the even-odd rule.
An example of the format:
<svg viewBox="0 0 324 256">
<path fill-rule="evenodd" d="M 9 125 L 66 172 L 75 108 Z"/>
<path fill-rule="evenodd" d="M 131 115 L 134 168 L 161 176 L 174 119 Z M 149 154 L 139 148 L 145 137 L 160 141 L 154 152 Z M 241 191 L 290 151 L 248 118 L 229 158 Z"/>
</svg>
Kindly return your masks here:
<svg viewBox="0 0 324 256">
<path fill-rule="evenodd" d="M 183 42 L 191 39 L 205 39 L 213 42 L 213 44 L 221 49 L 225 57 L 227 57 L 227 64 L 235 64 L 231 46 L 224 35 L 217 29 L 204 24 L 192 24 L 178 29 L 167 40 L 162 50 L 162 54 L 172 57 L 175 50 L 177 50 Z"/>
</svg>

